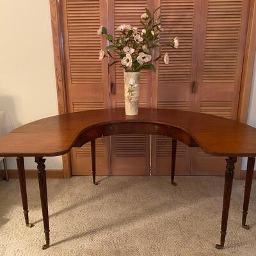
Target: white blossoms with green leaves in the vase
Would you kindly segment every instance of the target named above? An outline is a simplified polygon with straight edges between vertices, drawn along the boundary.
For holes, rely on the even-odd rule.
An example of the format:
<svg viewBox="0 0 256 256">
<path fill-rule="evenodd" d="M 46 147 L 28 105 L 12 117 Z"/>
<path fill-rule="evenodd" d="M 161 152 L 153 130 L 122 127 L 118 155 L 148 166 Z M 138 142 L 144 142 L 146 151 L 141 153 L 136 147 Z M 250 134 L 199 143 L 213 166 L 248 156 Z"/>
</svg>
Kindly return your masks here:
<svg viewBox="0 0 256 256">
<path fill-rule="evenodd" d="M 140 19 L 140 23 L 143 26 L 141 31 L 127 24 L 118 26 L 117 30 L 120 31 L 120 35 L 116 39 L 113 35 L 109 35 L 108 29 L 100 26 L 97 35 L 106 35 L 107 40 L 111 44 L 106 49 L 100 50 L 99 60 L 103 60 L 106 57 L 113 60 L 109 63 L 109 67 L 120 62 L 120 67 L 123 67 L 125 72 L 140 72 L 143 69 L 156 72 L 153 62 L 161 58 L 163 58 L 164 63 L 167 65 L 169 63 L 168 52 L 163 56 L 159 51 L 159 56 L 153 59 L 154 49 L 160 47 L 159 35 L 163 31 L 163 28 L 161 28 L 161 15 L 158 15 L 157 19 L 155 19 L 159 8 L 156 8 L 153 13 L 145 8 L 146 12 L 141 15 Z M 177 49 L 179 39 L 175 37 L 168 45 Z M 119 58 L 115 58 L 113 52 Z"/>
</svg>

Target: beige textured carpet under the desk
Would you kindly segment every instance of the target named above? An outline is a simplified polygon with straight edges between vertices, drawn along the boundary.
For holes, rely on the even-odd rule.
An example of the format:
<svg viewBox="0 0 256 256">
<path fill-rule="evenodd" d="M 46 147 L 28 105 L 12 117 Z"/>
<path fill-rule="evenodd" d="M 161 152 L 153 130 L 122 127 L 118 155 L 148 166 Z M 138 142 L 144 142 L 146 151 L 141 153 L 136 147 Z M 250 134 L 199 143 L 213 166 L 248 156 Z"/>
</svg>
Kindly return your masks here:
<svg viewBox="0 0 256 256">
<path fill-rule="evenodd" d="M 19 181 L 0 182 L 0 255 L 256 255 L 256 182 L 241 227 L 244 180 L 235 180 L 225 250 L 220 239 L 223 177 L 91 177 L 48 180 L 50 236 L 44 243 L 37 180 L 28 180 L 24 225 Z"/>
</svg>

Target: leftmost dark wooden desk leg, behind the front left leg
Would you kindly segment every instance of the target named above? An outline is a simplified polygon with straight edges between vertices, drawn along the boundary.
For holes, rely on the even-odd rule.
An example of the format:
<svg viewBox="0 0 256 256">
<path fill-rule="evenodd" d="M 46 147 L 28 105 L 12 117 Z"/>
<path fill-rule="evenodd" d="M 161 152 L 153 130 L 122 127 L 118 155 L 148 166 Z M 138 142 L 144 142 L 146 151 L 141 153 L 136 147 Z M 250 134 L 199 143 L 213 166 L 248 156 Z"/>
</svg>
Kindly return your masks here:
<svg viewBox="0 0 256 256">
<path fill-rule="evenodd" d="M 31 228 L 31 227 L 33 227 L 33 224 L 29 223 L 29 219 L 28 219 L 28 197 L 27 197 L 27 189 L 26 189 L 24 158 L 17 157 L 16 162 L 17 162 L 17 168 L 18 168 L 18 174 L 19 174 L 20 194 L 21 194 L 25 222 L 26 222 L 26 226 Z"/>
</svg>

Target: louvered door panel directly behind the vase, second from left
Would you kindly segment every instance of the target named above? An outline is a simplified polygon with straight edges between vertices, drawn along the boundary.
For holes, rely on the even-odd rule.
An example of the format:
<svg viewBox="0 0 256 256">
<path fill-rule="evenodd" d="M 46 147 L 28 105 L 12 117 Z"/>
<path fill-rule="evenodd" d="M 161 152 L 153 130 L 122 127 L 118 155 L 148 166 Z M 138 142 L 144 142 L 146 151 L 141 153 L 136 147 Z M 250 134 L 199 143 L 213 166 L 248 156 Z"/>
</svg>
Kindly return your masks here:
<svg viewBox="0 0 256 256">
<path fill-rule="evenodd" d="M 150 0 L 109 1 L 109 30 L 117 36 L 116 28 L 121 24 L 131 24 L 141 29 L 140 16 L 145 7 L 152 10 Z M 112 108 L 124 108 L 124 73 L 120 63 L 110 70 L 111 82 L 115 90 L 111 93 Z M 143 71 L 140 81 L 140 108 L 151 107 L 152 72 Z M 111 173 L 113 175 L 149 175 L 150 136 L 128 134 L 111 136 Z"/>
</svg>

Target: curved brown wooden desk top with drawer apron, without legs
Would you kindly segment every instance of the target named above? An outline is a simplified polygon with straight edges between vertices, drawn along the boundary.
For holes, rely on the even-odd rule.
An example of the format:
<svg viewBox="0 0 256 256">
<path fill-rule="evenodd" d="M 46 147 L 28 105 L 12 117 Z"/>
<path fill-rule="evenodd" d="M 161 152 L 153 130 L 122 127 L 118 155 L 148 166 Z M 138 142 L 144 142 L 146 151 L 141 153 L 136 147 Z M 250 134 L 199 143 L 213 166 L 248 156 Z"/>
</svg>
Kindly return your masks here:
<svg viewBox="0 0 256 256">
<path fill-rule="evenodd" d="M 131 123 L 134 123 L 131 125 Z M 112 134 L 161 134 L 214 156 L 256 156 L 256 129 L 227 118 L 171 109 L 99 109 L 51 116 L 0 138 L 0 156 L 59 156 Z"/>
</svg>

